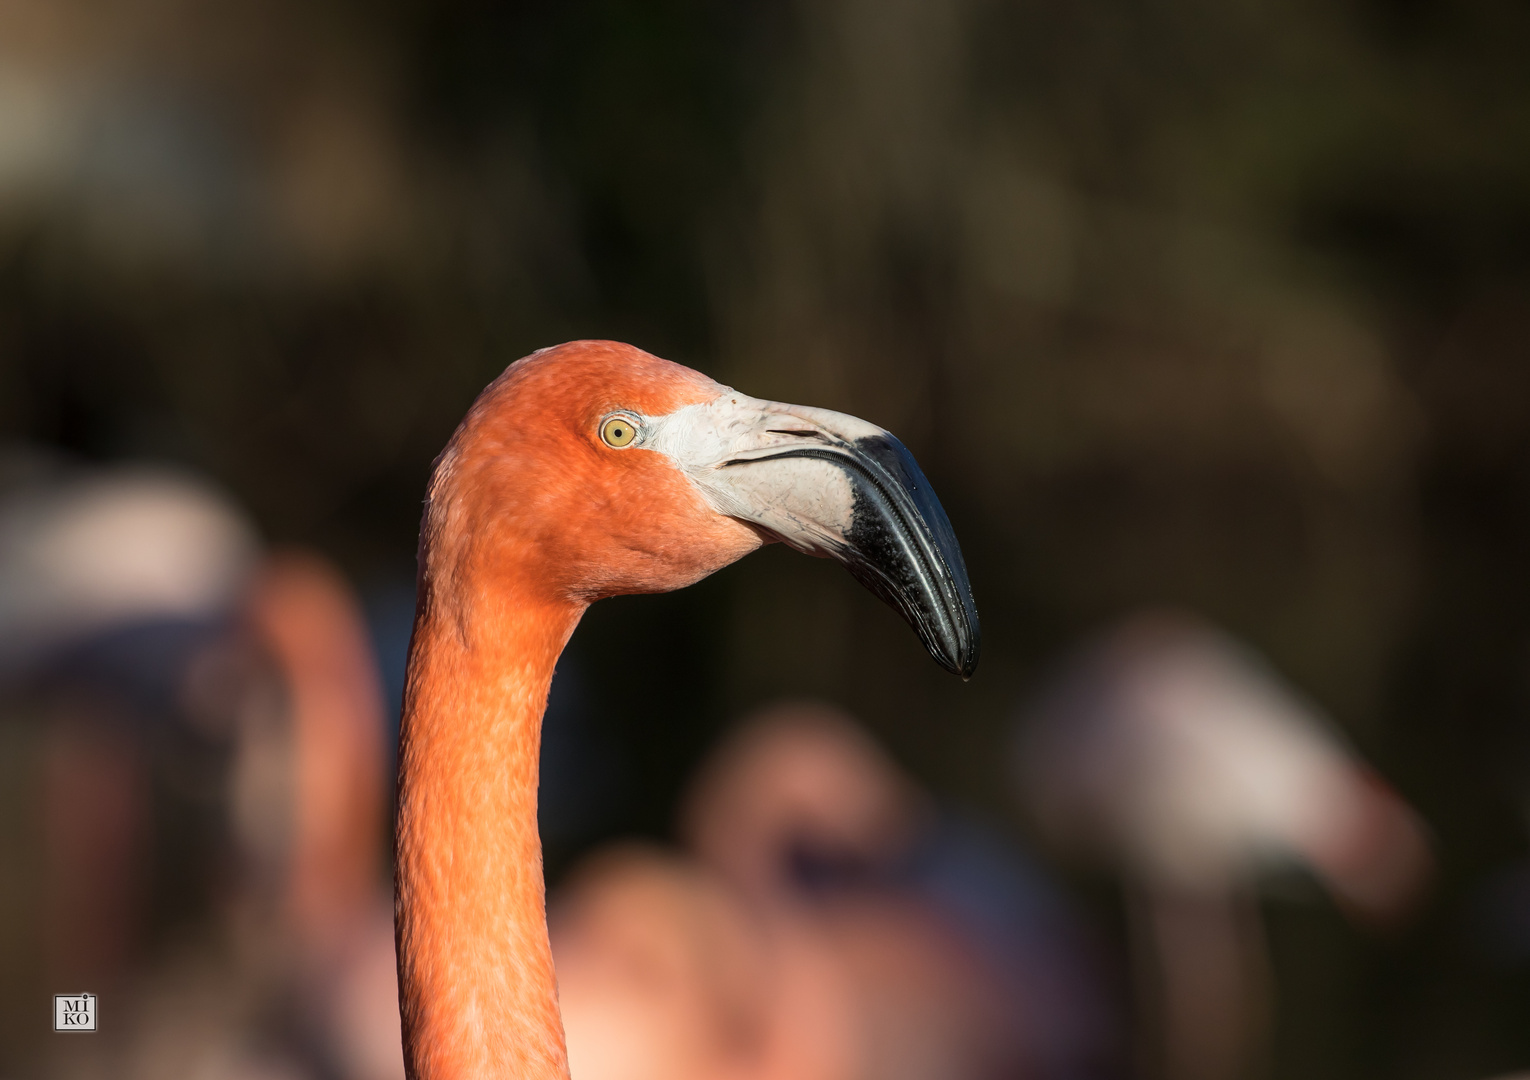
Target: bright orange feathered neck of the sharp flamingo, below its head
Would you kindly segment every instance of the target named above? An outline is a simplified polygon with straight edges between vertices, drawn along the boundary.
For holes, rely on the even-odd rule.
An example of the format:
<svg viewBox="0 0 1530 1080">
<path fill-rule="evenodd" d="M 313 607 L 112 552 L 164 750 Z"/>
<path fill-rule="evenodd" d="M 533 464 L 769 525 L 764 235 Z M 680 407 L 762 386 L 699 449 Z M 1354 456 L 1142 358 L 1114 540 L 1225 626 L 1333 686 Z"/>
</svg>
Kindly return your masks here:
<svg viewBox="0 0 1530 1080">
<path fill-rule="evenodd" d="M 425 600 L 398 762 L 398 956 L 412 1080 L 566 1080 L 537 765 L 552 668 L 583 612 L 528 592 Z"/>
</svg>

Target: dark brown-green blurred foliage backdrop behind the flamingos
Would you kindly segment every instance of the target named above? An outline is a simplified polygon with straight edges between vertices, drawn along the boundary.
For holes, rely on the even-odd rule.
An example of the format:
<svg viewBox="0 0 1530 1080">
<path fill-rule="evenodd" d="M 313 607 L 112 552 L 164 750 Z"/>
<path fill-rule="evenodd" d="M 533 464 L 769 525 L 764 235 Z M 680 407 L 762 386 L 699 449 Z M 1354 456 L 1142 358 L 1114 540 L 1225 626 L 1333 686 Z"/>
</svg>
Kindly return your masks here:
<svg viewBox="0 0 1530 1080">
<path fill-rule="evenodd" d="M 874 419 L 962 537 L 982 673 L 780 551 L 597 607 L 647 828 L 782 691 L 1002 809 L 1045 662 L 1193 606 L 1441 841 L 1406 936 L 1274 913 L 1274 1075 L 1522 1068 L 1530 971 L 1463 912 L 1525 854 L 1527 55 L 1510 0 L 5 0 L 0 434 L 191 464 L 379 580 L 543 344 Z"/>
</svg>

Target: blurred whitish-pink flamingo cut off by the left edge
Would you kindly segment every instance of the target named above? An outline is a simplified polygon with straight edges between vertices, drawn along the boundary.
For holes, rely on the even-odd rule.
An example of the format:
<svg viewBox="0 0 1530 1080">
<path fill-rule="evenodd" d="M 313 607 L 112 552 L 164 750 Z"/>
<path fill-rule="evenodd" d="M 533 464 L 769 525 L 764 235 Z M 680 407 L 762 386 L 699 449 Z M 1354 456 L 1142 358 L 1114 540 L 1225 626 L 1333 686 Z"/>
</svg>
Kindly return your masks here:
<svg viewBox="0 0 1530 1080">
<path fill-rule="evenodd" d="M 167 751 L 217 759 L 197 759 L 197 733 L 164 716 L 237 607 L 259 542 L 222 493 L 171 470 L 12 450 L 0 474 L 0 688 L 5 719 L 37 727 L 41 961 L 50 984 L 110 991 L 141 961 L 151 915 L 156 766 Z M 21 760 L 28 727 L 11 728 Z"/>
</svg>

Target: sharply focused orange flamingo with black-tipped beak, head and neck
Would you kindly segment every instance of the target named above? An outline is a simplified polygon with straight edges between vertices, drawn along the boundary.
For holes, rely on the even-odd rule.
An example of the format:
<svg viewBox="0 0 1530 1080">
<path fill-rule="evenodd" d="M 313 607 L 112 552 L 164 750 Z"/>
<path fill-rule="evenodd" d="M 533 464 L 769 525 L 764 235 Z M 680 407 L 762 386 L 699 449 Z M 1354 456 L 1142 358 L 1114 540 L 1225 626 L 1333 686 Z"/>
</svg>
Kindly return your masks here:
<svg viewBox="0 0 1530 1080">
<path fill-rule="evenodd" d="M 536 815 L 554 665 L 595 600 L 684 587 L 773 540 L 845 563 L 973 673 L 956 537 L 887 431 L 612 341 L 525 356 L 468 410 L 428 483 L 399 736 L 413 1080 L 568 1077 Z"/>
</svg>

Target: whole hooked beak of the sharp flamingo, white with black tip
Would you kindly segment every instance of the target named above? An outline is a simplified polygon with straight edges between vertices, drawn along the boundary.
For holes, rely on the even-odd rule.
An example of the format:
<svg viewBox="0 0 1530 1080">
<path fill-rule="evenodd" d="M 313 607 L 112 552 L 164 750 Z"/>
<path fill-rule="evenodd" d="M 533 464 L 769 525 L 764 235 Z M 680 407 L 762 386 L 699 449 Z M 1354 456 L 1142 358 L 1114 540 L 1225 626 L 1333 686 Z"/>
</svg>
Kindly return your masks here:
<svg viewBox="0 0 1530 1080">
<path fill-rule="evenodd" d="M 978 607 L 950 519 L 913 454 L 874 424 L 725 392 L 652 421 L 713 509 L 835 558 L 953 675 L 978 667 Z"/>
</svg>

